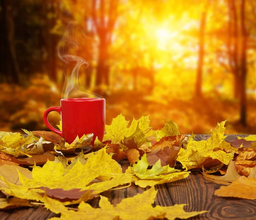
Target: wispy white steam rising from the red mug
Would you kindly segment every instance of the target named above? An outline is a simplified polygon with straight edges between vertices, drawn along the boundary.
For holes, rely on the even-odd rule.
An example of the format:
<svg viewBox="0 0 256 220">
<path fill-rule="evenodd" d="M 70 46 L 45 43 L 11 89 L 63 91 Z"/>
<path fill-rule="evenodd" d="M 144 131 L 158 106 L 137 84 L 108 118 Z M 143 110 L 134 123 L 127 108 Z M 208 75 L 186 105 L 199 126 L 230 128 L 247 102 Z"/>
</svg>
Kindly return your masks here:
<svg viewBox="0 0 256 220">
<path fill-rule="evenodd" d="M 95 94 L 85 89 L 80 82 L 79 70 L 81 66 L 87 68 L 89 66 L 87 60 L 82 57 L 73 55 L 72 51 L 78 50 L 78 42 L 76 41 L 74 29 L 76 27 L 75 22 L 70 22 L 65 31 L 61 41 L 58 43 L 58 56 L 67 65 L 68 63 L 75 62 L 76 65 L 71 74 L 67 74 L 64 71 L 65 83 L 63 86 L 61 98 L 102 98 L 100 95 Z M 84 38 L 85 40 L 85 38 Z M 71 53 L 71 54 L 67 54 Z"/>
</svg>

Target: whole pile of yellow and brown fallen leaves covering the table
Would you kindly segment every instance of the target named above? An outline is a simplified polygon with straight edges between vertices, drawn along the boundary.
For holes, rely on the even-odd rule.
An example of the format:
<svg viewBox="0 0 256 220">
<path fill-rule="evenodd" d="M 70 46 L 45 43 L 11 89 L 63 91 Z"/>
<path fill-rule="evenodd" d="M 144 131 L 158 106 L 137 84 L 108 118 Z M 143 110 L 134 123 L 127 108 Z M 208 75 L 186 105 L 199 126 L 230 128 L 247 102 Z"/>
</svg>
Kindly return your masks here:
<svg viewBox="0 0 256 220">
<path fill-rule="evenodd" d="M 61 213 L 62 219 L 84 214 L 87 219 L 111 220 L 188 218 L 205 211 L 185 212 L 184 205 L 152 203 L 157 194 L 154 185 L 186 178 L 193 170 L 201 170 L 207 180 L 230 185 L 215 191 L 218 196 L 256 199 L 256 135 L 228 143 L 221 122 L 207 140 L 196 141 L 194 134 L 181 135 L 172 120 L 165 120 L 157 131 L 149 123 L 148 116 L 129 122 L 120 114 L 106 125 L 103 141 L 96 138 L 93 146 L 93 134 L 68 144 L 49 131 L 0 132 L 0 190 L 6 194 L 0 208 L 41 204 Z M 121 160 L 131 164 L 124 172 Z M 100 196 L 131 184 L 151 188 L 115 207 Z M 99 209 L 85 203 L 99 196 Z M 79 204 L 77 211 L 67 207 L 73 204 Z"/>
</svg>

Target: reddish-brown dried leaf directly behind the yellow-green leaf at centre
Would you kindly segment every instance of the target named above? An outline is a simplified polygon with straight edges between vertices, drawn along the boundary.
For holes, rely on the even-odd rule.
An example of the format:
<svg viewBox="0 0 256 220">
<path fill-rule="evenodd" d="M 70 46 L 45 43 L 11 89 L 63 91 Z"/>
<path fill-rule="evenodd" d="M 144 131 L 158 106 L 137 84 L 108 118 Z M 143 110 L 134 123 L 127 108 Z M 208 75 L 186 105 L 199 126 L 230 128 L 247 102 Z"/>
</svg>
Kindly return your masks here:
<svg viewBox="0 0 256 220">
<path fill-rule="evenodd" d="M 149 166 L 157 163 L 157 161 L 160 159 L 161 166 L 169 165 L 170 167 L 174 167 L 176 165 L 176 158 L 179 151 L 180 147 L 173 146 L 169 148 L 166 146 L 163 149 L 156 149 L 154 151 L 148 152 L 147 157 Z"/>
</svg>

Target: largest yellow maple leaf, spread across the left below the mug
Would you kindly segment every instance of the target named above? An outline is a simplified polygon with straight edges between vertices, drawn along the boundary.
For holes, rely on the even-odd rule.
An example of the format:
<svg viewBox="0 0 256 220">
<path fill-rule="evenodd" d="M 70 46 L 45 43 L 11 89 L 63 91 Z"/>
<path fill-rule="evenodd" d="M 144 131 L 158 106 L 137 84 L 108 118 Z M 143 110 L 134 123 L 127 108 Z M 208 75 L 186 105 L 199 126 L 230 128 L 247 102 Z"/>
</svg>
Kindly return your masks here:
<svg viewBox="0 0 256 220">
<path fill-rule="evenodd" d="M 83 191 L 84 194 L 82 196 L 78 194 L 77 200 L 72 199 L 71 201 L 66 196 L 63 202 L 65 204 L 80 203 L 82 200 L 92 199 L 102 191 L 131 182 L 131 175 L 112 172 L 116 171 L 116 168 L 113 168 L 116 166 L 117 162 L 106 153 L 104 148 L 91 155 L 84 165 L 78 160 L 67 173 L 62 163 L 47 161 L 42 168 L 34 166 L 32 179 L 19 173 L 19 180 L 22 185 L 11 183 L 3 175 L 1 180 L 6 184 L 6 187 L 1 186 L 1 190 L 20 199 L 43 201 L 44 192 L 51 194 L 56 199 L 61 196 L 59 199 L 62 199 L 70 194 L 70 190 L 76 189 L 77 191 Z M 121 169 L 120 166 L 119 169 Z M 101 175 L 102 177 L 108 177 L 110 174 L 104 174 L 108 171 L 112 172 L 111 180 L 89 185 L 96 177 Z M 59 189 L 63 190 L 61 194 Z"/>
</svg>

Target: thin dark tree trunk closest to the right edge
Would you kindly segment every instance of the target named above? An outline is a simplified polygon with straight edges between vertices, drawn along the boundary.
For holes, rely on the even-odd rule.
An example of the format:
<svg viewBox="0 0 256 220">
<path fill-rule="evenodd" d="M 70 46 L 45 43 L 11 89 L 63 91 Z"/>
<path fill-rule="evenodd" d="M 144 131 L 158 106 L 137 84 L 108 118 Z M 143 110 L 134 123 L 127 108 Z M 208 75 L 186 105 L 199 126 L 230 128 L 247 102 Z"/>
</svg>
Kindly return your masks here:
<svg viewBox="0 0 256 220">
<path fill-rule="evenodd" d="M 247 31 L 245 27 L 245 0 L 241 0 L 241 91 L 240 91 L 240 123 L 247 126 Z"/>
</svg>

